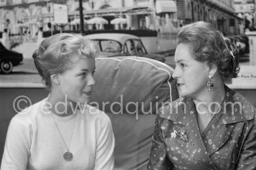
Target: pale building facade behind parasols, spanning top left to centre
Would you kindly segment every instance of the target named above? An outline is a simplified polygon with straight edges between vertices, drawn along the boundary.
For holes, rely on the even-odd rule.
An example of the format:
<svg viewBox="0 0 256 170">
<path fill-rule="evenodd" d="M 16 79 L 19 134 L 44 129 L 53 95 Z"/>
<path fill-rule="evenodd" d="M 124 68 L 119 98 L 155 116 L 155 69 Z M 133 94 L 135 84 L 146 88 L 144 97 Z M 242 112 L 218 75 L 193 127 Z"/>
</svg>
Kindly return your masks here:
<svg viewBox="0 0 256 170">
<path fill-rule="evenodd" d="M 69 22 L 65 29 L 79 29 L 79 24 L 70 25 L 80 17 L 78 0 L 0 0 L 0 31 L 8 27 L 8 31 L 17 34 L 20 30 L 28 32 L 29 28 L 34 35 L 39 25 L 44 31 L 51 29 L 48 23 L 54 25 L 54 3 L 67 4 Z M 173 26 L 170 22 L 177 20 L 174 0 L 82 0 L 82 7 L 85 19 L 107 19 L 109 24 L 104 25 L 105 29 L 118 28 L 110 24 L 118 17 L 127 19 L 121 25 L 125 29 L 168 30 Z M 54 25 L 54 29 L 59 27 Z M 92 29 L 92 25 L 87 29 Z"/>
</svg>

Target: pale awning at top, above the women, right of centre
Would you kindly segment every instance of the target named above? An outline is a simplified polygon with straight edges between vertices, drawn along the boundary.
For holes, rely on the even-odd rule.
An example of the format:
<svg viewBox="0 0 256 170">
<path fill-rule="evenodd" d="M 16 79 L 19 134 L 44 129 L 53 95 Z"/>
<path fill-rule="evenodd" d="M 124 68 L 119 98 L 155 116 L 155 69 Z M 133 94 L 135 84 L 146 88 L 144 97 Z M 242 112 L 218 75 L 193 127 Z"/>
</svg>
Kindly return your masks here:
<svg viewBox="0 0 256 170">
<path fill-rule="evenodd" d="M 177 6 L 174 0 L 156 0 L 155 2 L 156 13 L 176 13 Z"/>
</svg>

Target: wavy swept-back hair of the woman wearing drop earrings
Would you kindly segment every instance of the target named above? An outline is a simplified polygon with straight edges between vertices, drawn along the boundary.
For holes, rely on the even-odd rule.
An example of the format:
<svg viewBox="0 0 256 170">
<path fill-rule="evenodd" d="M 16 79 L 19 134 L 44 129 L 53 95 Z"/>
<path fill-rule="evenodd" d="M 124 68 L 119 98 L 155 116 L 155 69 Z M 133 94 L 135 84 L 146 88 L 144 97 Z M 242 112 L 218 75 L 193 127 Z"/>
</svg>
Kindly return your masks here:
<svg viewBox="0 0 256 170">
<path fill-rule="evenodd" d="M 216 65 L 223 81 L 237 77 L 240 70 L 237 48 L 225 40 L 214 25 L 198 21 L 182 26 L 177 35 L 177 44 L 181 43 L 189 44 L 190 54 L 195 60 L 206 62 L 209 67 Z"/>
</svg>

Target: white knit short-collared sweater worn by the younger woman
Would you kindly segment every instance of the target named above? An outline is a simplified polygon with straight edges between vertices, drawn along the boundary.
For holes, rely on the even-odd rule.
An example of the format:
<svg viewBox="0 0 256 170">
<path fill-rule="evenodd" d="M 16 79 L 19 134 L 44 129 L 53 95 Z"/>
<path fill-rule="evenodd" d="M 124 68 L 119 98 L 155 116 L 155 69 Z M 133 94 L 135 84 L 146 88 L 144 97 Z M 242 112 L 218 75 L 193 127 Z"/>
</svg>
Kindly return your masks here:
<svg viewBox="0 0 256 170">
<path fill-rule="evenodd" d="M 67 117 L 56 116 L 49 110 L 45 112 L 46 100 L 13 117 L 1 170 L 113 170 L 115 139 L 108 116 L 89 105 L 84 112 L 78 110 Z M 72 161 L 63 159 L 67 149 L 51 114 L 66 145 L 69 145 L 76 117 L 69 147 L 74 156 Z"/>
</svg>

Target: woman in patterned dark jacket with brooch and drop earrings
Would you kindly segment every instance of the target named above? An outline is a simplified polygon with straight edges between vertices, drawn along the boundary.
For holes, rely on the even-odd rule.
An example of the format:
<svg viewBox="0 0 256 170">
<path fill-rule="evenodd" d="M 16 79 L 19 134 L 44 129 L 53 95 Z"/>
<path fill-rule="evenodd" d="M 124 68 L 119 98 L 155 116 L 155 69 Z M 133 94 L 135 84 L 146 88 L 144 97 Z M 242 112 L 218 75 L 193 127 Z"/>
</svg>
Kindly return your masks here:
<svg viewBox="0 0 256 170">
<path fill-rule="evenodd" d="M 235 46 L 195 22 L 177 35 L 175 63 L 181 97 L 157 114 L 148 170 L 256 169 L 256 109 L 224 83 L 239 71 Z"/>
</svg>

